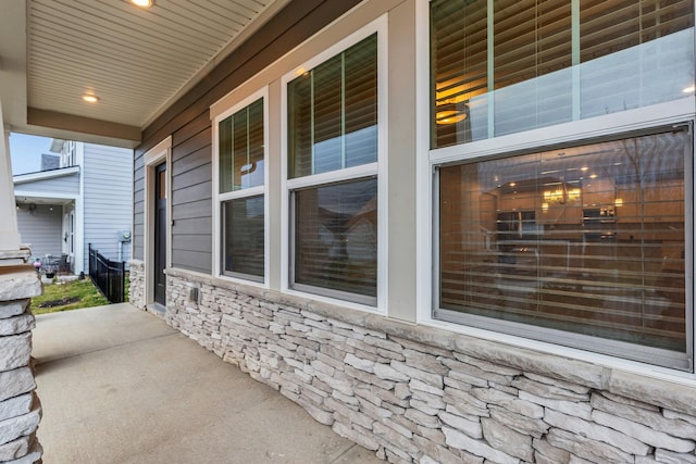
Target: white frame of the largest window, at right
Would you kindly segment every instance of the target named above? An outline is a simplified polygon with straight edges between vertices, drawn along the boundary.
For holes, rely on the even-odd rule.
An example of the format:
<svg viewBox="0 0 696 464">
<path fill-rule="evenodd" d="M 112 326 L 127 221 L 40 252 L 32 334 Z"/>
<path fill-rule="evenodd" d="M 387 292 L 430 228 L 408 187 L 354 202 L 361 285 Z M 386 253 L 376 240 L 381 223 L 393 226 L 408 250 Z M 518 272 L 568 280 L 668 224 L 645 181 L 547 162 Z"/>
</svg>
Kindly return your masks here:
<svg viewBox="0 0 696 464">
<path fill-rule="evenodd" d="M 555 126 L 540 127 L 522 133 L 515 133 L 495 138 L 470 141 L 450 147 L 431 149 L 431 90 L 430 90 L 430 0 L 417 0 L 417 322 L 424 326 L 446 329 L 452 333 L 468 335 L 485 340 L 507 343 L 512 347 L 532 349 L 559 356 L 568 356 L 592 363 L 600 363 L 608 367 L 622 368 L 636 374 L 657 376 L 675 381 L 687 381 L 696 385 L 696 373 L 678 371 L 669 367 L 646 364 L 638 361 L 617 358 L 610 354 L 601 354 L 585 351 L 579 348 L 563 347 L 549 341 L 538 341 L 525 338 L 524 334 L 509 335 L 490 329 L 484 329 L 460 323 L 451 323 L 436 319 L 433 316 L 437 308 L 437 224 L 436 217 L 437 188 L 435 168 L 439 165 L 467 160 L 485 160 L 489 156 L 518 151 L 531 150 L 545 146 L 576 142 L 584 140 L 630 133 L 633 130 L 649 129 L 670 124 L 684 123 L 696 120 L 696 98 L 694 95 L 679 100 L 642 106 L 619 113 L 596 116 L 587 120 L 572 121 Z M 694 143 L 696 150 L 696 140 Z M 696 178 L 696 163 L 692 163 L 692 178 L 686 174 L 686 187 L 694 191 L 693 181 Z M 688 190 L 687 190 L 688 191 Z M 687 198 L 687 212 L 685 222 L 692 230 L 685 237 L 687 247 L 694 249 L 696 243 L 696 227 L 694 227 L 694 203 L 696 199 Z M 688 208 L 691 206 L 691 208 Z M 689 266 L 691 264 L 691 266 Z M 696 351 L 696 317 L 694 308 L 694 262 L 686 262 L 686 308 L 692 309 L 686 314 L 687 351 Z M 689 290 L 691 287 L 691 291 Z M 492 319 L 495 321 L 495 319 Z M 693 360 L 694 358 L 692 358 Z"/>
</svg>

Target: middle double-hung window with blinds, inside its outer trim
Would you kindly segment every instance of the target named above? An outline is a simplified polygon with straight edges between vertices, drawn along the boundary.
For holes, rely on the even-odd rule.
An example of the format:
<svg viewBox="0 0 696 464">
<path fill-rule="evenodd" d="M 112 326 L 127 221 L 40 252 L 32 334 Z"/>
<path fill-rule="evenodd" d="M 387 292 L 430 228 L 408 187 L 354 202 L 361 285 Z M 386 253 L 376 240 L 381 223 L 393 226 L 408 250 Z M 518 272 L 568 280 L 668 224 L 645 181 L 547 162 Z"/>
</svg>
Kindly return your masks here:
<svg viewBox="0 0 696 464">
<path fill-rule="evenodd" d="M 377 304 L 381 32 L 288 75 L 288 287 Z"/>
</svg>

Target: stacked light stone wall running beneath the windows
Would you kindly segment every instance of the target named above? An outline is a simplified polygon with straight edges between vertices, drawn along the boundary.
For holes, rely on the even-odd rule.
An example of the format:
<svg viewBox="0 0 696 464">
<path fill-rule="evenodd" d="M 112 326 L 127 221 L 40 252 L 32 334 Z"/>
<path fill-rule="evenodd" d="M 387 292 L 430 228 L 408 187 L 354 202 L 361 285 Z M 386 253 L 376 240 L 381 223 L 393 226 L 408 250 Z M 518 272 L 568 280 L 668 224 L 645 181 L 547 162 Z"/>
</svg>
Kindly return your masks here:
<svg viewBox="0 0 696 464">
<path fill-rule="evenodd" d="M 696 390 L 167 272 L 165 319 L 391 463 L 696 463 Z"/>
</svg>

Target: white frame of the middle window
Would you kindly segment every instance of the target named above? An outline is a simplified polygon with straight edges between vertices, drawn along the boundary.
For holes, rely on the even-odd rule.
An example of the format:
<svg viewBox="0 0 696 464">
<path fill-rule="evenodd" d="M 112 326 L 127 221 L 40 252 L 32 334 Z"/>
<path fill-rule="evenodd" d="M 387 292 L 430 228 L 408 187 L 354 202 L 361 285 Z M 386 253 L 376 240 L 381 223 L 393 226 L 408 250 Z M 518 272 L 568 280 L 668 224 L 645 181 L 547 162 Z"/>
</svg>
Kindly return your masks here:
<svg viewBox="0 0 696 464">
<path fill-rule="evenodd" d="M 293 71 L 286 73 L 281 78 L 281 161 L 282 161 L 282 263 L 281 263 L 281 289 L 285 293 L 295 294 L 303 298 L 311 298 L 315 301 L 322 301 L 330 304 L 338 304 L 344 308 L 355 309 L 359 311 L 373 312 L 378 314 L 387 314 L 387 301 L 388 301 L 388 254 L 387 254 L 387 233 L 388 233 L 388 214 L 387 214 L 387 85 L 388 85 L 388 59 L 387 59 L 387 15 L 384 14 L 376 20 L 372 21 L 368 25 L 361 27 L 349 36 L 334 43 L 332 47 L 316 54 L 312 59 L 295 67 Z M 326 60 L 335 57 L 336 54 L 345 51 L 351 46 L 358 43 L 360 40 L 377 34 L 377 162 L 370 163 L 361 166 L 356 166 L 346 170 L 338 170 L 330 173 L 322 173 L 295 179 L 288 179 L 288 164 L 287 164 L 287 84 L 296 77 L 302 75 L 308 70 L 312 70 L 315 66 L 324 63 Z M 319 186 L 324 183 L 332 183 L 338 180 L 358 179 L 363 176 L 377 176 L 377 300 L 376 305 L 368 305 L 356 303 L 352 301 L 341 300 L 337 298 L 331 298 L 320 296 L 316 293 L 309 293 L 290 288 L 290 269 L 291 262 L 291 243 L 290 234 L 291 226 L 290 221 L 290 192 L 291 190 Z"/>
</svg>

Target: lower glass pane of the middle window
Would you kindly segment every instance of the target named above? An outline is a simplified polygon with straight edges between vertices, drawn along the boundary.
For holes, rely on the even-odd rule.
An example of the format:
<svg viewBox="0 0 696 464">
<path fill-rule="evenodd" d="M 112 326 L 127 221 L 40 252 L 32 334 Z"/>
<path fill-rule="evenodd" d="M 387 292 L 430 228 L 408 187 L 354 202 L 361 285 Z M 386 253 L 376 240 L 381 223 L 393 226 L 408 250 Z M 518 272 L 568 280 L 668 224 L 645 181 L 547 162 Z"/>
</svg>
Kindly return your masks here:
<svg viewBox="0 0 696 464">
<path fill-rule="evenodd" d="M 294 199 L 295 284 L 376 297 L 376 178 L 296 190 Z"/>
</svg>

